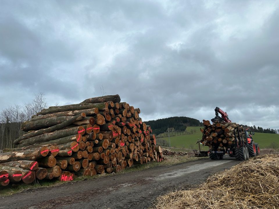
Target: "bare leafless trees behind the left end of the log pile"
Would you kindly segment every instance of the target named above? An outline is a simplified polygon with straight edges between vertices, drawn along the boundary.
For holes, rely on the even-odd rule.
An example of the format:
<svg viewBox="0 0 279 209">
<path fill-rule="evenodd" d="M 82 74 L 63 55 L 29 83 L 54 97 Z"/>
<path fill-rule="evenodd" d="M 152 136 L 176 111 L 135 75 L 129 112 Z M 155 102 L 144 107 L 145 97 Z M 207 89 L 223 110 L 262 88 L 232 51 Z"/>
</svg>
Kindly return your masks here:
<svg viewBox="0 0 279 209">
<path fill-rule="evenodd" d="M 30 103 L 24 105 L 14 105 L 3 109 L 0 112 L 0 150 L 4 148 L 14 148 L 14 140 L 24 134 L 21 130 L 21 123 L 30 120 L 31 116 L 47 108 L 43 93 L 35 94 L 35 98 Z"/>
</svg>

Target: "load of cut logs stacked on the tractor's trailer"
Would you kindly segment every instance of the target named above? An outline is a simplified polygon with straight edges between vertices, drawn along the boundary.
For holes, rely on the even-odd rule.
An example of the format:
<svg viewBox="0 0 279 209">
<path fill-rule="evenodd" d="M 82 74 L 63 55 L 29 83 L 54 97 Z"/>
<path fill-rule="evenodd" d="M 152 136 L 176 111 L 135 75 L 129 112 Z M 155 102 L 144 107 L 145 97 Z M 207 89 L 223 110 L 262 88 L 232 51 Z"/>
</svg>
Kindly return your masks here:
<svg viewBox="0 0 279 209">
<path fill-rule="evenodd" d="M 239 138 L 244 137 L 244 129 L 237 123 L 233 122 L 213 122 L 203 120 L 204 128 L 201 128 L 203 133 L 201 143 L 208 146 L 209 149 L 218 151 L 225 150 L 232 144 L 239 142 Z M 239 136 L 237 129 L 239 129 Z"/>
</svg>

